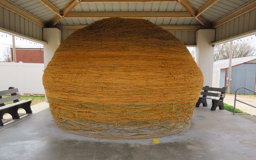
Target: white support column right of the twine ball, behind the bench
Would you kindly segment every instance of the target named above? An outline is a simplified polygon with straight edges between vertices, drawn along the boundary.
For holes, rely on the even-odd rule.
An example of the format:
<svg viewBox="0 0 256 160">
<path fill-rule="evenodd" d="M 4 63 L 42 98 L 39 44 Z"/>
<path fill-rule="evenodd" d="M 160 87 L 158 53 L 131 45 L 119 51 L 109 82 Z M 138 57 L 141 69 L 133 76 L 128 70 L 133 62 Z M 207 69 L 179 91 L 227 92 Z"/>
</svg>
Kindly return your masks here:
<svg viewBox="0 0 256 160">
<path fill-rule="evenodd" d="M 200 29 L 196 31 L 195 60 L 204 75 L 204 86 L 212 87 L 214 47 L 210 43 L 215 40 L 215 29 Z M 211 104 L 211 100 L 207 100 Z"/>
</svg>

